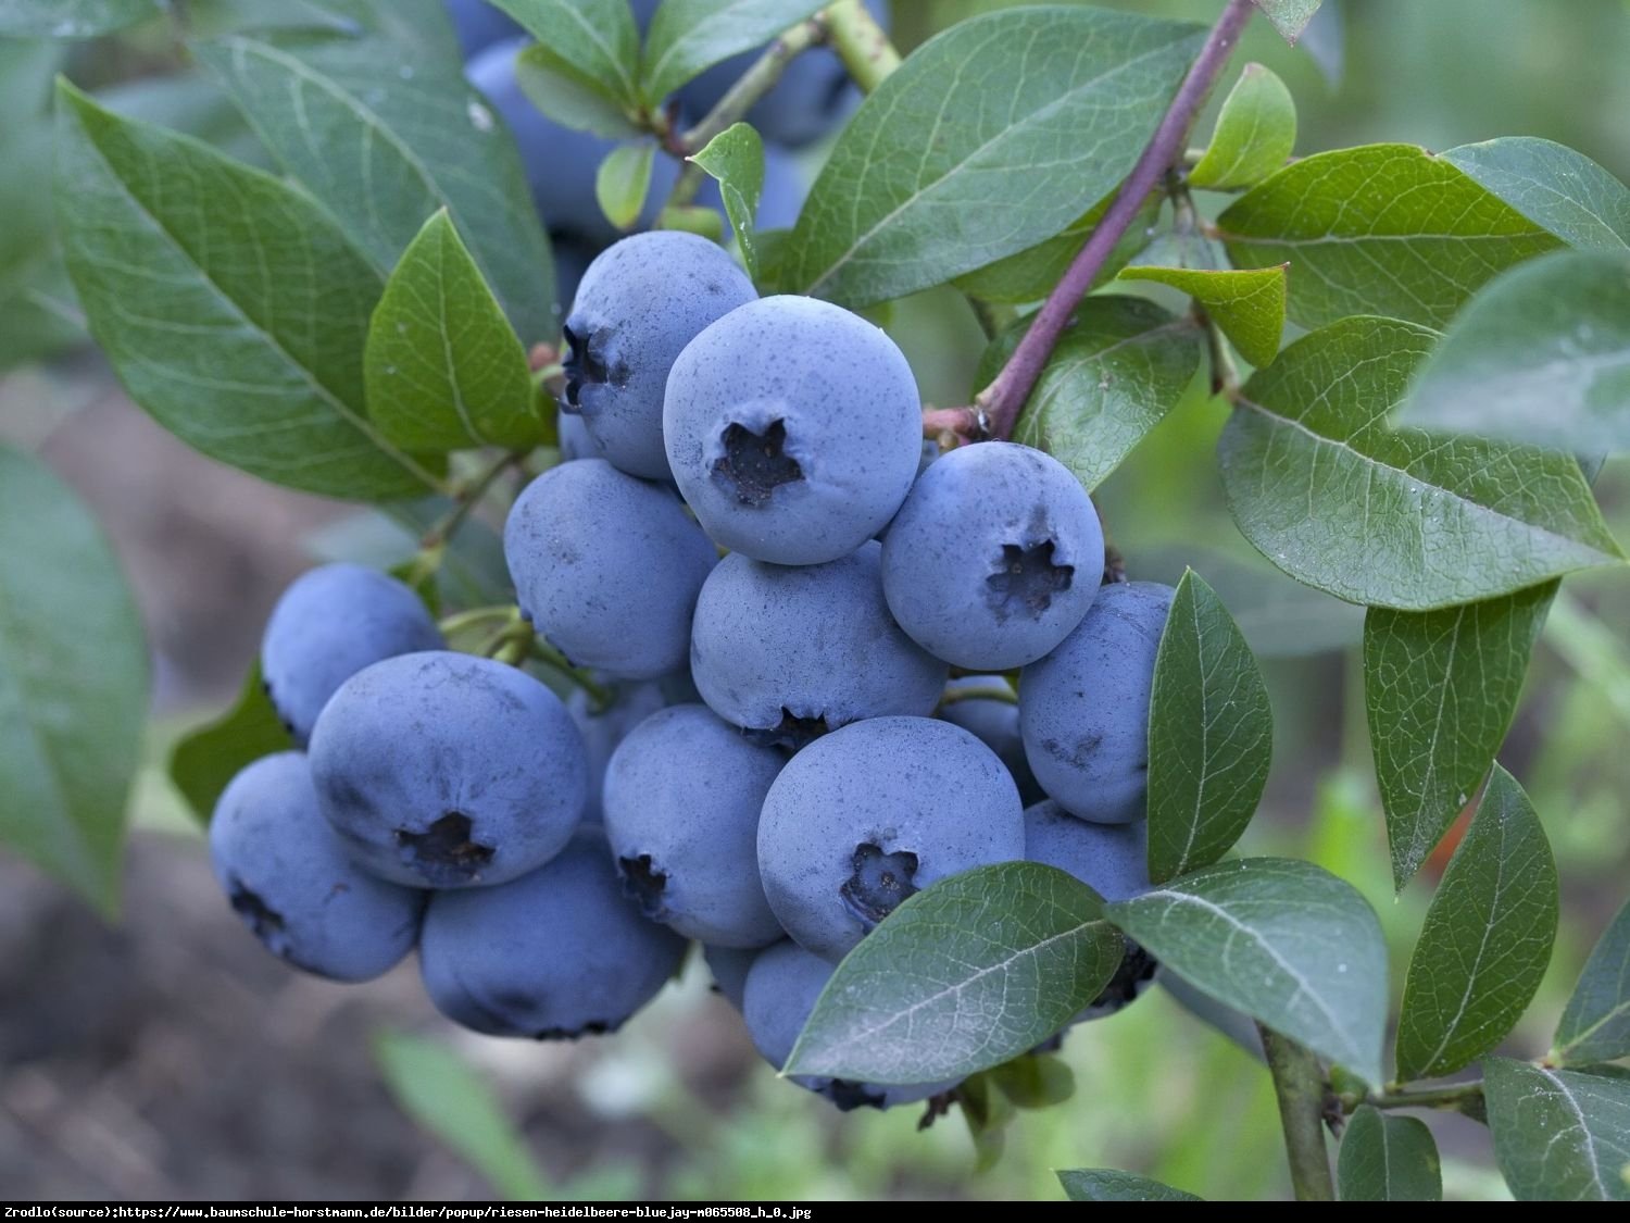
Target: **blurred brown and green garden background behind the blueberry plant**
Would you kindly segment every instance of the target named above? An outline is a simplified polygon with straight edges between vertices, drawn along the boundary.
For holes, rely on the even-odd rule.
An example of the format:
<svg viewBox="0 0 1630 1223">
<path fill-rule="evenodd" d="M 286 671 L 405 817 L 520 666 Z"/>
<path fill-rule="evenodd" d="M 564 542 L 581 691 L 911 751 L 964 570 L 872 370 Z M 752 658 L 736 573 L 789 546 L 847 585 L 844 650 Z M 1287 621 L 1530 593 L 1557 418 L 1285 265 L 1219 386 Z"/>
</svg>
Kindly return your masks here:
<svg viewBox="0 0 1630 1223">
<path fill-rule="evenodd" d="M 896 0 L 895 33 L 910 49 L 999 7 Z M 1198 21 L 1218 8 L 1115 7 Z M 196 82 L 150 78 L 174 65 L 160 38 L 145 38 L 78 49 L 70 72 L 119 83 L 124 109 L 253 158 L 253 142 Z M 1245 60 L 1291 86 L 1301 153 L 1540 135 L 1630 178 L 1623 0 L 1325 0 L 1301 49 L 1255 21 L 1236 67 Z M 1206 130 L 1201 121 L 1196 135 Z M 820 155 L 808 153 L 810 173 Z M 958 297 L 924 294 L 883 321 L 924 398 L 967 401 L 983 338 Z M 1353 881 L 1387 929 L 1397 996 L 1446 851 L 1392 895 L 1363 726 L 1361 616 L 1296 587 L 1239 538 L 1211 460 L 1224 419 L 1196 383 L 1102 489 L 1105 519 L 1133 577 L 1175 581 L 1192 564 L 1263 654 L 1278 739 L 1265 812 L 1242 850 L 1307 856 Z M 359 527 L 349 510 L 189 455 L 122 404 L 83 355 L 0 377 L 0 435 L 41 448 L 109 523 L 160 675 L 126 925 L 103 929 L 21 864 L 0 861 L 8 1195 L 1058 1199 L 1053 1169 L 1073 1166 L 1130 1168 L 1214 1199 L 1286 1194 L 1267 1075 L 1159 990 L 1076 1029 L 1063 1050 L 1074 1097 L 1020 1114 L 1001 1156 L 975 1172 L 957 1115 L 918 1132 L 914 1109 L 839 1115 L 778 1083 L 709 995 L 699 964 L 619 1039 L 567 1047 L 455 1032 L 417 1000 L 411 964 L 362 991 L 261 964 L 220 905 L 202 841 L 165 779 L 170 744 L 230 696 L 275 590 L 337 523 L 373 532 L 386 553 L 411 536 L 393 545 L 378 519 Z M 1597 488 L 1609 522 L 1630 536 L 1630 465 L 1609 465 Z M 1630 879 L 1625 625 L 1630 589 L 1615 574 L 1570 579 L 1501 753 L 1545 820 L 1563 876 L 1552 970 L 1509 1042 L 1524 1055 L 1544 1052 Z M 1487 1132 L 1457 1115 L 1430 1124 L 1447 1197 L 1504 1195 Z"/>
</svg>

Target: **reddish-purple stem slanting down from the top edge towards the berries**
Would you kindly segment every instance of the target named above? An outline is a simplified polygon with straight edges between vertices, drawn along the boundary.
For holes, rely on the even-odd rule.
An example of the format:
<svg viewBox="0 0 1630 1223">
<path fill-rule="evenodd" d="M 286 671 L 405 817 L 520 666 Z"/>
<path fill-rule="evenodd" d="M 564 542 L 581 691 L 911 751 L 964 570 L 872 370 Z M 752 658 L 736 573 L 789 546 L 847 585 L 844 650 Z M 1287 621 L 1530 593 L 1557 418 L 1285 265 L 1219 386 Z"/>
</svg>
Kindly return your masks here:
<svg viewBox="0 0 1630 1223">
<path fill-rule="evenodd" d="M 1240 29 L 1250 20 L 1250 11 L 1252 0 L 1227 2 L 1227 8 L 1222 10 L 1222 16 L 1211 28 L 1205 47 L 1200 49 L 1200 55 L 1177 90 L 1170 109 L 1161 119 L 1161 126 L 1156 127 L 1148 148 L 1138 158 L 1138 165 L 1133 166 L 1131 174 L 1121 184 L 1115 202 L 1104 214 L 1104 220 L 1092 230 L 1092 236 L 1087 238 L 1086 245 L 1076 254 L 1074 263 L 1069 264 L 1069 271 L 1053 287 L 1053 292 L 1037 311 L 1030 329 L 1019 341 L 1019 347 L 1014 349 L 1007 364 L 1002 365 L 1001 373 L 975 398 L 973 403 L 985 413 L 986 430 L 991 437 L 1006 439 L 1012 434 L 1014 422 L 1019 419 L 1019 409 L 1030 398 L 1037 378 L 1042 377 L 1042 370 L 1046 367 L 1048 357 L 1053 355 L 1053 347 L 1069 325 L 1071 315 L 1081 305 L 1081 298 L 1087 295 L 1094 277 L 1097 277 L 1115 245 L 1121 240 L 1121 235 L 1126 233 L 1138 217 L 1143 201 L 1159 186 L 1167 170 L 1182 157 L 1188 129 L 1193 126 L 1195 116 L 1200 114 L 1200 108 L 1211 91 L 1211 85 L 1234 51 Z"/>
</svg>

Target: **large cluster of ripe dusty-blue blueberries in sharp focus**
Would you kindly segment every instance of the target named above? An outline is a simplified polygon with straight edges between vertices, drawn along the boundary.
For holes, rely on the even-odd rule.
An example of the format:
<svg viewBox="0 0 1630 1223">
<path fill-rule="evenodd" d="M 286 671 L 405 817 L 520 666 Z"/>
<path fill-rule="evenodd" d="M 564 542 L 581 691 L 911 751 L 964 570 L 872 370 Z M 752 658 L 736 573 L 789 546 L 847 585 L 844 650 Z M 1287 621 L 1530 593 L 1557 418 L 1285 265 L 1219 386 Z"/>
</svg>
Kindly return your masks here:
<svg viewBox="0 0 1630 1223">
<path fill-rule="evenodd" d="M 1102 584 L 1063 466 L 1006 442 L 924 465 L 883 331 L 760 298 L 693 235 L 598 256 L 566 334 L 590 457 L 520 492 L 504 550 L 531 629 L 615 701 L 448 651 L 394 579 L 306 574 L 262 652 L 303 752 L 244 770 L 212 827 L 274 952 L 360 980 L 417 944 L 452 1019 L 575 1037 L 698 941 L 781 1065 L 833 965 L 937 879 L 1029 858 L 1148 889 L 1172 590 Z M 1081 1018 L 1152 972 L 1128 947 Z M 887 1107 L 950 1084 L 804 1086 Z"/>
</svg>

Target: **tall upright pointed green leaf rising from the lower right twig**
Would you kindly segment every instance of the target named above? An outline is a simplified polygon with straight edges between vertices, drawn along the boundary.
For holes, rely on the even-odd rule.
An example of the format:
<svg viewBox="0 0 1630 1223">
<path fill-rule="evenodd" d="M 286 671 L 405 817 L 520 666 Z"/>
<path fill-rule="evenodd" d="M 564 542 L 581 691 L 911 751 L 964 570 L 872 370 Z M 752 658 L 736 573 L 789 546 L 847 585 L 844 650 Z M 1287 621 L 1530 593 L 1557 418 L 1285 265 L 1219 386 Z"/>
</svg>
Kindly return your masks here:
<svg viewBox="0 0 1630 1223">
<path fill-rule="evenodd" d="M 1557 938 L 1557 863 L 1545 828 L 1500 765 L 1426 910 L 1399 1014 L 1399 1081 L 1439 1078 L 1522 1018 Z"/>
</svg>

